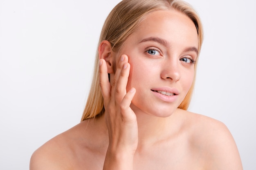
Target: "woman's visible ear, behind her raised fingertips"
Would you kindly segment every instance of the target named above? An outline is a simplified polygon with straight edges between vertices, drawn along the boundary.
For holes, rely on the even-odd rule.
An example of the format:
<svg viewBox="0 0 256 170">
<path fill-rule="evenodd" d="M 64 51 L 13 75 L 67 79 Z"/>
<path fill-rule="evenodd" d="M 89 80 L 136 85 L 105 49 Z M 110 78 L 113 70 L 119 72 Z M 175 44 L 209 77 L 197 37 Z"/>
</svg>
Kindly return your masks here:
<svg viewBox="0 0 256 170">
<path fill-rule="evenodd" d="M 114 59 L 112 46 L 109 41 L 101 41 L 98 48 L 99 59 L 104 59 L 107 63 L 108 73 L 114 73 Z"/>
</svg>

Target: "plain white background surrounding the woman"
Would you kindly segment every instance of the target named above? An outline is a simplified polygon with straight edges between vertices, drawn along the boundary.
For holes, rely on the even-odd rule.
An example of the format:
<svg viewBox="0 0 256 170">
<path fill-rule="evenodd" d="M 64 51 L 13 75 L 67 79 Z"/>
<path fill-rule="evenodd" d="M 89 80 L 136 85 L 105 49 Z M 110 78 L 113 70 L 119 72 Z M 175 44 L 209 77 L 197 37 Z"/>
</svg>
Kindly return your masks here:
<svg viewBox="0 0 256 170">
<path fill-rule="evenodd" d="M 29 169 L 36 148 L 79 123 L 101 27 L 118 2 L 0 0 L 1 170 Z M 255 170 L 256 2 L 187 2 L 205 35 L 190 110 L 224 122 L 244 169 Z"/>
</svg>

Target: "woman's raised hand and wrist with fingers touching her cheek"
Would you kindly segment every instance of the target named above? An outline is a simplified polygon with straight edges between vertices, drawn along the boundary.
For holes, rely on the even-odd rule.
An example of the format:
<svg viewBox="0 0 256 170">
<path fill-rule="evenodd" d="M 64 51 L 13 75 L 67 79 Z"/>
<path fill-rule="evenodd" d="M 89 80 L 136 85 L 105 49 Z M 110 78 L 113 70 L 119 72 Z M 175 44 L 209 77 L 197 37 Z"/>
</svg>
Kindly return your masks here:
<svg viewBox="0 0 256 170">
<path fill-rule="evenodd" d="M 119 170 L 122 169 L 121 167 L 129 169 L 130 166 L 132 168 L 133 155 L 138 144 L 137 119 L 130 108 L 136 90 L 131 88 L 129 92 L 126 92 L 129 72 L 128 57 L 122 55 L 111 86 L 108 80 L 106 61 L 100 59 L 100 86 L 104 98 L 105 119 L 109 135 L 104 167 Z"/>
</svg>

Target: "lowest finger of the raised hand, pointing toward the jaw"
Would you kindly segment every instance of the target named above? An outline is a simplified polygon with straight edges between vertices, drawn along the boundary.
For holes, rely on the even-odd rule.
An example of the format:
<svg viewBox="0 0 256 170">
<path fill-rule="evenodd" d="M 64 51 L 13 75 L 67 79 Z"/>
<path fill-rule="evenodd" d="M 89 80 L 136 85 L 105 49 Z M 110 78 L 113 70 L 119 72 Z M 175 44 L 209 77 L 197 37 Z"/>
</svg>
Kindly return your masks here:
<svg viewBox="0 0 256 170">
<path fill-rule="evenodd" d="M 132 99 L 136 93 L 136 89 L 132 87 L 129 92 L 124 96 L 122 102 L 120 103 L 120 110 L 122 113 L 122 116 L 124 118 L 124 121 L 134 121 L 136 119 L 135 113 L 130 108 L 130 104 L 132 102 Z"/>
</svg>

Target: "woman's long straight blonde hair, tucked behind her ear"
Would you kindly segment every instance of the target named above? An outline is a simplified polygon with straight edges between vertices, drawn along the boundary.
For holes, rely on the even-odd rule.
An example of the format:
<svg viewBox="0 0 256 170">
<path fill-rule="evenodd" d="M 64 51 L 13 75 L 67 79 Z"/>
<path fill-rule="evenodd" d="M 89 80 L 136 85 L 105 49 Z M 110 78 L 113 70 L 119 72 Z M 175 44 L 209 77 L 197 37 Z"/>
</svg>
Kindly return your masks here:
<svg viewBox="0 0 256 170">
<path fill-rule="evenodd" d="M 101 41 L 107 40 L 112 45 L 112 50 L 118 51 L 126 39 L 138 28 L 139 24 L 148 13 L 171 9 L 184 13 L 193 21 L 198 31 L 198 51 L 200 52 L 203 39 L 202 23 L 195 10 L 182 0 L 123 0 L 119 2 L 119 4 L 112 9 L 103 25 L 99 44 Z M 184 110 L 188 109 L 194 84 L 195 77 L 189 92 L 178 108 Z M 81 121 L 100 116 L 104 111 L 103 96 L 99 86 L 99 54 L 97 52 L 91 89 Z"/>
</svg>

